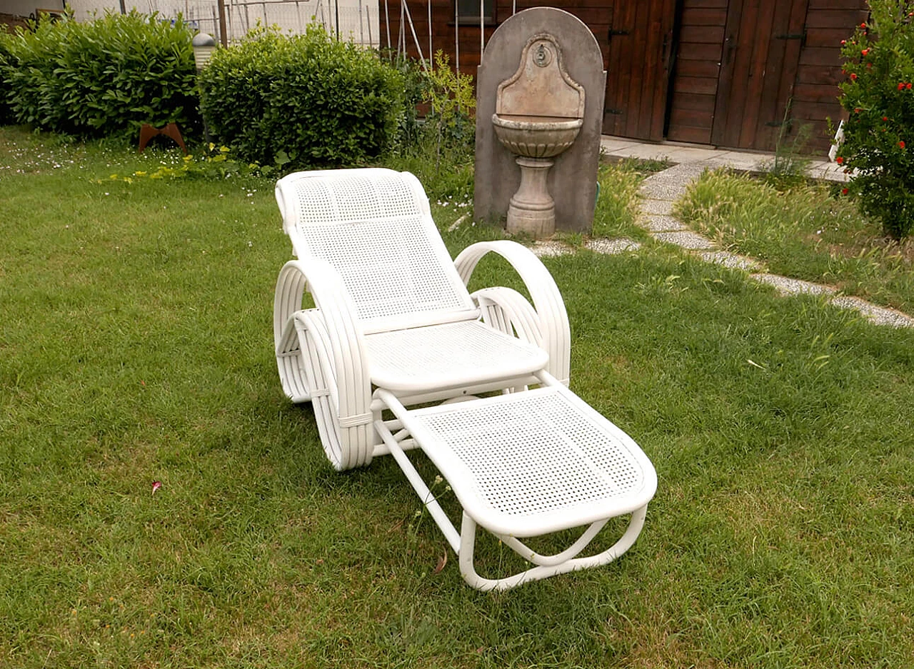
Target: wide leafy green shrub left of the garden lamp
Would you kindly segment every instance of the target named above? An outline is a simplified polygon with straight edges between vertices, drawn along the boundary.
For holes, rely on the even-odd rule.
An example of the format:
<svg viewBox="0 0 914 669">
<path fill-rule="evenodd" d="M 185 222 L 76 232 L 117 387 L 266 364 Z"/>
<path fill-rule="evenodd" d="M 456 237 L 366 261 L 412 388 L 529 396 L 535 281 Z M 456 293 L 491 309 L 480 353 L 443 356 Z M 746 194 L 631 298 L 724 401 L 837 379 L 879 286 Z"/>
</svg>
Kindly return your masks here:
<svg viewBox="0 0 914 669">
<path fill-rule="evenodd" d="M 88 23 L 40 21 L 7 40 L 13 119 L 102 136 L 142 122 L 198 124 L 191 33 L 135 11 Z"/>
</svg>

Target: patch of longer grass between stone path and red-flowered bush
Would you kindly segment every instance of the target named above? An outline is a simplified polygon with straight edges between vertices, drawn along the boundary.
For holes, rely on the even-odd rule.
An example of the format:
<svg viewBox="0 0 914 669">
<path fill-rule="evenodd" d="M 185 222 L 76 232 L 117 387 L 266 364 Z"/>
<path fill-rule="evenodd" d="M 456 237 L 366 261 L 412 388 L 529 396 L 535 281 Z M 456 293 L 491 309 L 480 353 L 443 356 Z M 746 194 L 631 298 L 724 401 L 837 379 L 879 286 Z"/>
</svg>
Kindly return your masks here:
<svg viewBox="0 0 914 669">
<path fill-rule="evenodd" d="M 770 271 L 834 285 L 850 295 L 914 312 L 914 247 L 887 239 L 834 186 L 785 191 L 749 176 L 708 173 L 675 214 Z"/>
</svg>

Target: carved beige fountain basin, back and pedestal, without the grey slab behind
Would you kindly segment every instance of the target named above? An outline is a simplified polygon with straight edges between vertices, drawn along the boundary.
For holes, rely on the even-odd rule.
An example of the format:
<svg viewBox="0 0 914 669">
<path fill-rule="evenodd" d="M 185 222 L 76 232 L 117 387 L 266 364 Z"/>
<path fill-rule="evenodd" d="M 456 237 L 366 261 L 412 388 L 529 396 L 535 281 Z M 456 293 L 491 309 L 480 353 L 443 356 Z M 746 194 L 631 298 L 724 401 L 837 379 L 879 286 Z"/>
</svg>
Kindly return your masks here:
<svg viewBox="0 0 914 669">
<path fill-rule="evenodd" d="M 547 189 L 552 158 L 574 143 L 584 124 L 584 89 L 569 77 L 556 38 L 527 40 L 520 67 L 498 85 L 492 124 L 498 141 L 520 166 L 520 187 L 511 196 L 507 231 L 549 237 L 556 231 L 556 205 Z"/>
</svg>

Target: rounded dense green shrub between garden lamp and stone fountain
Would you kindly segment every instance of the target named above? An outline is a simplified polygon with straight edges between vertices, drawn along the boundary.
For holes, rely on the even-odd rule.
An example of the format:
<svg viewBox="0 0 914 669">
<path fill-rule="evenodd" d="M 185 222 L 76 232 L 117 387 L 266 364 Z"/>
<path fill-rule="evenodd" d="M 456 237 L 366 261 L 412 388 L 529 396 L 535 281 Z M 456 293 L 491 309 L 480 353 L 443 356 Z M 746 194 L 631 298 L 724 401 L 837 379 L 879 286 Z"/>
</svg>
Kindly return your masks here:
<svg viewBox="0 0 914 669">
<path fill-rule="evenodd" d="M 388 148 L 403 81 L 374 53 L 309 26 L 256 28 L 218 49 L 200 78 L 210 133 L 246 161 L 354 165 Z"/>
</svg>

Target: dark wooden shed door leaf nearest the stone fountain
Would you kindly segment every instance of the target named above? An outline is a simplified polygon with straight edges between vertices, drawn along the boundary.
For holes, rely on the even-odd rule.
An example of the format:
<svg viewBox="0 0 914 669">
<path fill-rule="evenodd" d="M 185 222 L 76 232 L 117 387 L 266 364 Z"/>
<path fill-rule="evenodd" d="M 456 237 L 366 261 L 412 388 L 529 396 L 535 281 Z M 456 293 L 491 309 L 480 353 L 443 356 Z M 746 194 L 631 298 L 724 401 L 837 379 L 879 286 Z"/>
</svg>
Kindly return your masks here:
<svg viewBox="0 0 914 669">
<path fill-rule="evenodd" d="M 675 0 L 610 0 L 603 133 L 660 141 L 674 53 Z"/>
</svg>

